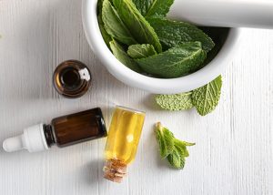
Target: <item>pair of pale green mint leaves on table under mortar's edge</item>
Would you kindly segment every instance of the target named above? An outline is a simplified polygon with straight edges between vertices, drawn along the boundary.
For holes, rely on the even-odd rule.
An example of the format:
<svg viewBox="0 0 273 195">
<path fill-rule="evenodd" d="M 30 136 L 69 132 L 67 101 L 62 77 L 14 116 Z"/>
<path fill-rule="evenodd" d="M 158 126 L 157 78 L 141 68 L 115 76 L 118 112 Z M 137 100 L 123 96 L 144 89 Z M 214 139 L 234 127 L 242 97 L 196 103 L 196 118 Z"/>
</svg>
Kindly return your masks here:
<svg viewBox="0 0 273 195">
<path fill-rule="evenodd" d="M 222 77 L 219 76 L 204 87 L 175 95 L 158 95 L 157 104 L 167 110 L 185 110 L 197 108 L 201 116 L 212 112 L 218 104 L 222 87 Z"/>
</svg>

